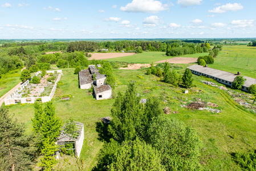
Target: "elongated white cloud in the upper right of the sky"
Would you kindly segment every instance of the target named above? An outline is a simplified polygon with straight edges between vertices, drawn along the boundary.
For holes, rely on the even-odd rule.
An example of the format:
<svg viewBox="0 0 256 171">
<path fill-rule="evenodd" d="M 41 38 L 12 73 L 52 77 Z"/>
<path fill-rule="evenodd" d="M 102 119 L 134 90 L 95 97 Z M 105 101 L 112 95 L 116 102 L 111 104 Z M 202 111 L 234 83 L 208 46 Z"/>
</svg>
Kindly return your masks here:
<svg viewBox="0 0 256 171">
<path fill-rule="evenodd" d="M 218 6 L 213 10 L 209 10 L 209 13 L 226 13 L 226 11 L 238 11 L 242 10 L 241 3 L 227 3 L 226 5 Z"/>
</svg>

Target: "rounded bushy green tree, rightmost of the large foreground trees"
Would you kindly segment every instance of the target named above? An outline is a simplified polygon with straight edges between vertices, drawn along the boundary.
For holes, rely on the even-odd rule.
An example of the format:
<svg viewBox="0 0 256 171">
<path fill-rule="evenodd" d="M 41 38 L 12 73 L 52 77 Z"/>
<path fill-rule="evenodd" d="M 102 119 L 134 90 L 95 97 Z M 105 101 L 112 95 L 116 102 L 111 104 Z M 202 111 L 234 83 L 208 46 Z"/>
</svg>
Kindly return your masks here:
<svg viewBox="0 0 256 171">
<path fill-rule="evenodd" d="M 153 119 L 147 142 L 159 150 L 166 170 L 198 170 L 201 140 L 191 127 L 169 117 Z"/>
</svg>

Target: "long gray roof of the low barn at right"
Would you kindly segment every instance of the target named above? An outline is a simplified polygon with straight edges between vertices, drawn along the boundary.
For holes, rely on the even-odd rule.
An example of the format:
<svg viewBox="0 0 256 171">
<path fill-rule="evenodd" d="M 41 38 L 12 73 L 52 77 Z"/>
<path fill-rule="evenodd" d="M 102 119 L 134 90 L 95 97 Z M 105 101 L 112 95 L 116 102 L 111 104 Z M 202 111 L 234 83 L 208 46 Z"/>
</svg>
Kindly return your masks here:
<svg viewBox="0 0 256 171">
<path fill-rule="evenodd" d="M 213 76 L 218 79 L 226 80 L 228 82 L 233 82 L 234 78 L 237 76 L 237 74 L 233 74 L 231 72 L 216 70 L 209 67 L 200 66 L 197 64 L 194 64 L 193 66 L 188 67 L 190 70 L 194 70 L 197 72 L 201 72 L 202 74 L 206 74 L 209 76 Z M 250 78 L 248 76 L 243 76 L 243 78 L 246 79 L 245 84 L 243 86 L 250 87 L 251 84 L 256 84 L 256 79 Z"/>
</svg>

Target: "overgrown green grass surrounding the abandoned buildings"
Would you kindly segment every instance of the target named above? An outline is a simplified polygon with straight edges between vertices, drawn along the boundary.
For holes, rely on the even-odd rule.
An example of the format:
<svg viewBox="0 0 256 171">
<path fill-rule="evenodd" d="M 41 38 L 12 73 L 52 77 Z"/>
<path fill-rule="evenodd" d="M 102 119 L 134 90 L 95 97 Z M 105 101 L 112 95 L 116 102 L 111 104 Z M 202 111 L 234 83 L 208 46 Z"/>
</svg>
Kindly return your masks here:
<svg viewBox="0 0 256 171">
<path fill-rule="evenodd" d="M 176 64 L 172 68 L 182 74 L 190 64 Z M 247 151 L 256 148 L 255 143 L 255 114 L 239 107 L 224 90 L 210 87 L 201 83 L 200 76 L 193 75 L 196 87 L 189 89 L 189 94 L 184 94 L 182 87 L 173 87 L 159 81 L 154 75 L 145 75 L 146 70 L 113 70 L 117 79 L 117 87 L 113 91 L 113 98 L 118 91 L 125 91 L 127 84 L 136 81 L 137 91 L 141 98 L 155 96 L 161 100 L 162 108 L 169 107 L 176 114 L 165 115 L 184 121 L 193 127 L 201 137 L 204 148 L 201 150 L 201 165 L 204 170 L 241 170 L 233 160 L 232 154 L 237 150 Z M 63 70 L 64 76 L 60 79 L 62 86 L 56 89 L 53 102 L 56 107 L 56 115 L 63 123 L 72 117 L 74 120 L 84 123 L 84 145 L 80 159 L 83 160 L 84 170 L 91 170 L 97 162 L 97 154 L 103 146 L 103 141 L 98 136 L 97 122 L 100 117 L 111 116 L 111 107 L 115 99 L 96 101 L 87 90 L 78 88 L 78 75 L 74 75 L 74 68 L 68 73 Z M 218 83 L 219 86 L 221 84 Z M 239 91 L 241 93 L 241 91 Z M 70 101 L 60 101 L 62 95 L 72 95 Z M 190 101 L 212 102 L 218 104 L 221 113 L 190 110 L 181 107 L 181 104 Z M 10 113 L 14 113 L 18 121 L 25 123 L 27 133 L 31 131 L 31 117 L 34 115 L 32 104 L 18 104 L 9 107 Z M 24 115 L 26 113 L 26 115 Z M 162 114 L 164 115 L 164 114 Z M 251 148 L 250 148 L 250 146 Z M 79 170 L 76 164 L 67 164 L 66 168 L 56 170 Z"/>
</svg>

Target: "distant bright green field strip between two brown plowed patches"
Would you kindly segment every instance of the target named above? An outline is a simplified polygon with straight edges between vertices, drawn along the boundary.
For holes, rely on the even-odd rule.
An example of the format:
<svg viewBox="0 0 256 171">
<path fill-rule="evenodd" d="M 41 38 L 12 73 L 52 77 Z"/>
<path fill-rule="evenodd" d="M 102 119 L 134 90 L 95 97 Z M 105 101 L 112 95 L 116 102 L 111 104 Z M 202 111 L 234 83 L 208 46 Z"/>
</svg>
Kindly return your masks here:
<svg viewBox="0 0 256 171">
<path fill-rule="evenodd" d="M 186 57 L 186 58 L 198 58 L 199 56 L 208 55 L 209 53 L 201 53 L 201 54 L 191 54 L 191 55 L 183 55 L 178 57 Z M 113 62 L 127 62 L 127 63 L 152 63 L 160 60 L 171 59 L 175 56 L 166 56 L 165 52 L 143 52 L 141 54 L 131 55 L 131 56 L 123 56 L 118 58 L 110 58 L 106 59 L 108 61 Z"/>
</svg>

